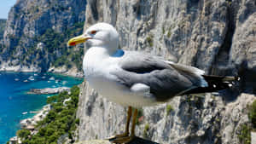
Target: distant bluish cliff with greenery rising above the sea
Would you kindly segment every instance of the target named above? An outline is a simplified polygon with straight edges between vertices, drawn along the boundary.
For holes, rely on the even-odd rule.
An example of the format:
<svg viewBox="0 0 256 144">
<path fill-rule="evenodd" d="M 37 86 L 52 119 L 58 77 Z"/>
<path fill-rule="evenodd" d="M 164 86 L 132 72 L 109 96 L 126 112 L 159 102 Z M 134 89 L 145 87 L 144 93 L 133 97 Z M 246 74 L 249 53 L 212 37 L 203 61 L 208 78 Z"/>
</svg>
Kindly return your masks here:
<svg viewBox="0 0 256 144">
<path fill-rule="evenodd" d="M 66 43 L 83 31 L 85 5 L 84 0 L 18 0 L 9 11 L 0 69 L 45 72 L 50 66 L 72 66 L 68 62 L 75 56 L 69 54 L 83 49 Z M 62 64 L 64 57 L 68 61 Z"/>
</svg>

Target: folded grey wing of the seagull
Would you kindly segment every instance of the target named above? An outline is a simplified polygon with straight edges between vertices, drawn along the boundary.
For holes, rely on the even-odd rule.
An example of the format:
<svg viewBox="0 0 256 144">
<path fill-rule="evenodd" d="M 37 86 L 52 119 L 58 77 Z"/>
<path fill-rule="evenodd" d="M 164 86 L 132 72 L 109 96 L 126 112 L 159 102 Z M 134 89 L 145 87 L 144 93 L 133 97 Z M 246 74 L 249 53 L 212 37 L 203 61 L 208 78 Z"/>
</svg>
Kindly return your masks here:
<svg viewBox="0 0 256 144">
<path fill-rule="evenodd" d="M 160 60 L 152 55 L 125 51 L 119 58 L 121 71 L 112 72 L 119 83 L 131 88 L 146 84 L 157 101 L 167 101 L 189 89 L 201 86 L 201 70 Z"/>
</svg>

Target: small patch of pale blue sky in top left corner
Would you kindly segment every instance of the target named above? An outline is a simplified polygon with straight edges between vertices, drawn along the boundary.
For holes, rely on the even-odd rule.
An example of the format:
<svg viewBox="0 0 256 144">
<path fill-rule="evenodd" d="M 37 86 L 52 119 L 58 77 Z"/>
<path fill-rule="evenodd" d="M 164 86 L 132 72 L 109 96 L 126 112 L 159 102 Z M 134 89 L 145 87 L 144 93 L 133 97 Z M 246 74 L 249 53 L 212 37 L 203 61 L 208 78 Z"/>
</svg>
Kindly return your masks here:
<svg viewBox="0 0 256 144">
<path fill-rule="evenodd" d="M 0 19 L 7 19 L 9 9 L 15 5 L 16 0 L 0 0 Z"/>
</svg>

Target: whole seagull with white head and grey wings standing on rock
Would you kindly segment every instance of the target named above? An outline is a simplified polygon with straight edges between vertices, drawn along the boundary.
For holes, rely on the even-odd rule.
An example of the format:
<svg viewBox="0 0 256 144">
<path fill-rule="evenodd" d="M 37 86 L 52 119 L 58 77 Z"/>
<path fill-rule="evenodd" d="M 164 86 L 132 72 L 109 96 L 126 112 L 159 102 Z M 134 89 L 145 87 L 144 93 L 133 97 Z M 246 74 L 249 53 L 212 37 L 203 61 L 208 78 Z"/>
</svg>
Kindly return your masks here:
<svg viewBox="0 0 256 144">
<path fill-rule="evenodd" d="M 128 107 L 125 133 L 109 139 L 113 143 L 128 143 L 135 138 L 137 108 L 155 106 L 179 95 L 228 89 L 238 79 L 208 76 L 193 66 L 119 49 L 119 33 L 108 23 L 90 26 L 81 36 L 70 39 L 67 45 L 85 42 L 90 47 L 83 60 L 86 81 L 108 100 Z"/>
</svg>

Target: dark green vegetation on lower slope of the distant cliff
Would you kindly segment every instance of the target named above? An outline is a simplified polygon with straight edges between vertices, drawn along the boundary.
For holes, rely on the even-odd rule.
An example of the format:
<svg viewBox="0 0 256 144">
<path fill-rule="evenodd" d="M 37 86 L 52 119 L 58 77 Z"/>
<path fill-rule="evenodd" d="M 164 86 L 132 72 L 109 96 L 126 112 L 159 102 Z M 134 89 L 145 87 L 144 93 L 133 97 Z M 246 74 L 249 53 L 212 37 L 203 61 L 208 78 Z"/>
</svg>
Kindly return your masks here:
<svg viewBox="0 0 256 144">
<path fill-rule="evenodd" d="M 31 48 L 26 48 L 26 53 L 16 57 L 16 52 L 13 52 L 10 57 L 18 58 L 20 63 L 15 63 L 14 60 L 9 66 L 38 65 L 43 72 L 46 72 L 49 66 L 67 66 L 67 68 L 76 66 L 81 71 L 84 49 L 82 47 L 67 47 L 67 41 L 70 37 L 81 34 L 83 26 L 84 22 L 78 22 L 74 26 L 66 28 L 64 32 L 56 32 L 52 28 L 47 29 L 43 35 L 33 38 L 35 44 Z M 41 43 L 41 46 L 38 43 Z"/>
</svg>

